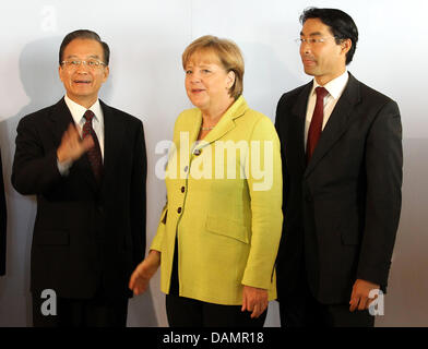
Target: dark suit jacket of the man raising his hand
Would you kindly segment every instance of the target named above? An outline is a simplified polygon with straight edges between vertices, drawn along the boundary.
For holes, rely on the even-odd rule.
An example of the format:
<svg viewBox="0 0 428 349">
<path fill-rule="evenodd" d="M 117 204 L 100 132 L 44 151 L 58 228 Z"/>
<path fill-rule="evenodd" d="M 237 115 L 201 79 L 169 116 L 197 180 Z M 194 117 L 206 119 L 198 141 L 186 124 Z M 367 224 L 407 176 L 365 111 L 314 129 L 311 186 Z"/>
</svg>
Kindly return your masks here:
<svg viewBox="0 0 428 349">
<path fill-rule="evenodd" d="M 105 123 L 104 178 L 87 155 L 62 177 L 57 148 L 70 122 L 63 99 L 17 125 L 12 184 L 37 195 L 31 289 L 85 299 L 102 290 L 130 297 L 129 277 L 145 251 L 146 156 L 142 122 L 100 103 Z"/>
</svg>

